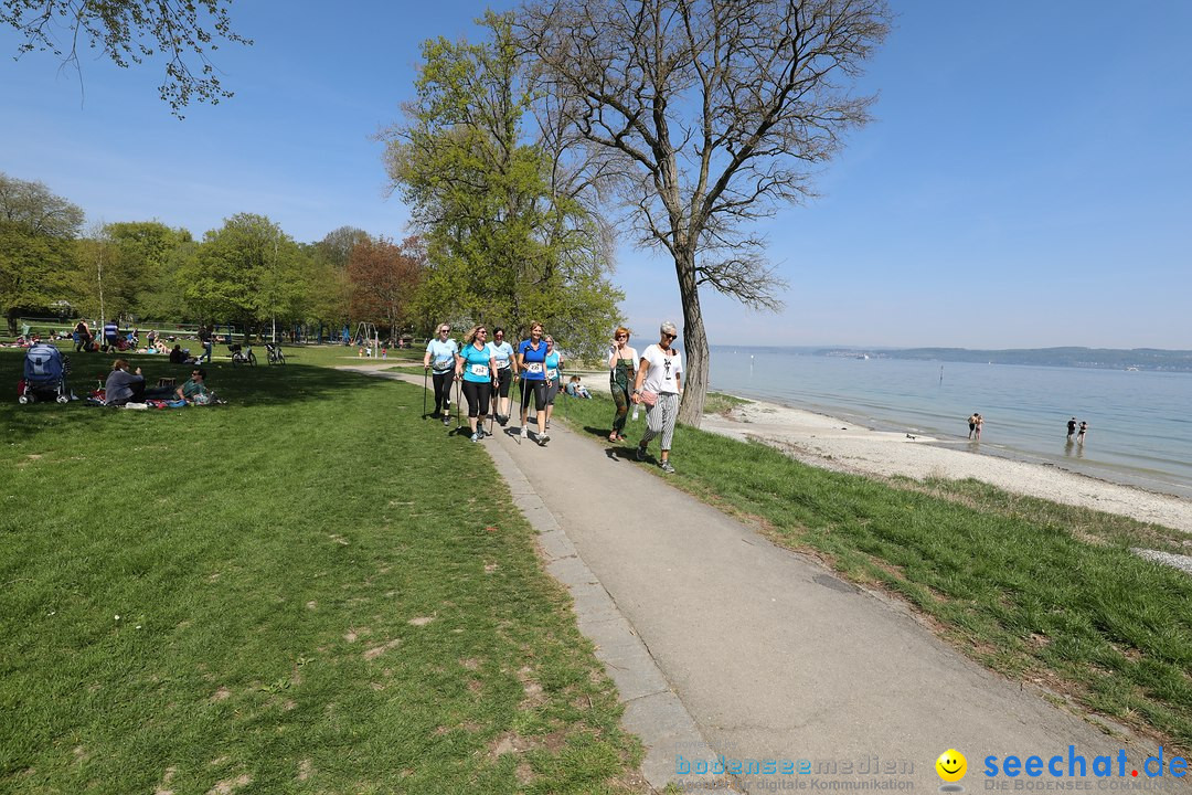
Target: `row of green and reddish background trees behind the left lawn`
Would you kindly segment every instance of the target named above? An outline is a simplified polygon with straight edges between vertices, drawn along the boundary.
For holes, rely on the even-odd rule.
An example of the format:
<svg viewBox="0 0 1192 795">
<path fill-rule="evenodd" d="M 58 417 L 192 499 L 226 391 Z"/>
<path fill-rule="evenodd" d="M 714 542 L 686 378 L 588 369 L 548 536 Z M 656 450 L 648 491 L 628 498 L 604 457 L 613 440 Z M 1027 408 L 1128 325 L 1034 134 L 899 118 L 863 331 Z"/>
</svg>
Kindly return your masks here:
<svg viewBox="0 0 1192 795">
<path fill-rule="evenodd" d="M 236 213 L 192 238 L 156 221 L 94 224 L 41 182 L 0 173 L 0 311 L 124 322 L 236 323 L 246 331 L 368 319 L 398 335 L 418 325 L 411 304 L 424 259 L 344 226 L 311 244 L 268 217 Z"/>
</svg>

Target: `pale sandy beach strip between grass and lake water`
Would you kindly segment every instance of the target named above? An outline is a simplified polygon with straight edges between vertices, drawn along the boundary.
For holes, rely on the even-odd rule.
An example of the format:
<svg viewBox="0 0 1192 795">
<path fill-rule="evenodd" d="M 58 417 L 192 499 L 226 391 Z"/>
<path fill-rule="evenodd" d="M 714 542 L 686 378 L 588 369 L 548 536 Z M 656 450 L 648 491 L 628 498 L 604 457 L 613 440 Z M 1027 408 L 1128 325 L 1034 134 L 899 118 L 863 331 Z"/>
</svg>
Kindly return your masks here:
<svg viewBox="0 0 1192 795">
<path fill-rule="evenodd" d="M 915 479 L 975 478 L 1006 491 L 1092 508 L 1192 533 L 1192 501 L 1118 485 L 1056 466 L 1011 461 L 939 440 L 886 433 L 774 403 L 737 406 L 728 416 L 707 415 L 703 429 L 774 445 L 807 464 L 842 472 Z M 966 445 L 967 446 L 967 445 Z"/>
</svg>

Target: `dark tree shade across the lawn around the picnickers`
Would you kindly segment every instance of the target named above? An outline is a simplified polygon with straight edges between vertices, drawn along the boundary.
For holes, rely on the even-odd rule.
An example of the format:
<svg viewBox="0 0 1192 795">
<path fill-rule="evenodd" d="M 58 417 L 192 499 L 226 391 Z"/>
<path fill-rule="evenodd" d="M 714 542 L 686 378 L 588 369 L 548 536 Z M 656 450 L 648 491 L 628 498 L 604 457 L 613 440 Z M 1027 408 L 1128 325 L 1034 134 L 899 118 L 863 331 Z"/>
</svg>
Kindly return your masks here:
<svg viewBox="0 0 1192 795">
<path fill-rule="evenodd" d="M 97 406 L 87 402 L 87 396 L 97 389 L 111 372 L 112 362 L 118 356 L 111 354 L 67 354 L 70 356 L 72 372 L 67 378 L 70 390 L 80 398 L 68 404 L 17 403 L 17 383 L 24 373 L 25 352 L 19 348 L 0 349 L 0 427 L 10 436 L 36 436 L 52 428 L 61 421 L 75 423 L 104 423 L 116 409 Z M 132 368 L 141 367 L 147 385 L 153 389 L 159 379 L 173 378 L 179 386 L 191 377 L 192 365 L 172 365 L 164 356 L 147 354 L 123 354 Z M 204 409 L 162 409 L 148 410 L 142 414 L 147 420 L 159 415 L 175 415 L 188 411 L 226 411 L 259 406 L 277 406 L 305 400 L 335 400 L 346 390 L 378 389 L 384 379 L 359 373 L 349 373 L 319 367 L 316 365 L 287 364 L 268 366 L 263 362 L 255 367 L 231 365 L 216 361 L 204 365 L 207 372 L 207 385 L 216 395 L 228 402 L 225 406 Z M 5 393 L 5 390 L 8 390 Z M 50 421 L 52 417 L 52 422 Z M 452 418 L 454 428 L 454 417 Z"/>
</svg>

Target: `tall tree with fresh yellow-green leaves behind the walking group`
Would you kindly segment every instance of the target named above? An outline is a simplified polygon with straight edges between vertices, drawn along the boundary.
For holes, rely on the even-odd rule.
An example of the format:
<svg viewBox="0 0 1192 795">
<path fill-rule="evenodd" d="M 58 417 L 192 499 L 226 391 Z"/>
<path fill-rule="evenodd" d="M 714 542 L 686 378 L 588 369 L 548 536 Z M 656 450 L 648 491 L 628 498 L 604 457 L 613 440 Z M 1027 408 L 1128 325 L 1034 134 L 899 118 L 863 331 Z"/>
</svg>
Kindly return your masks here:
<svg viewBox="0 0 1192 795">
<path fill-rule="evenodd" d="M 592 180 L 558 167 L 561 138 L 530 112 L 536 88 L 510 17 L 490 13 L 483 25 L 482 44 L 423 44 L 417 100 L 385 136 L 387 172 L 427 246 L 412 311 L 423 328 L 452 319 L 516 331 L 540 319 L 569 352 L 590 353 L 621 298 L 607 235 L 584 204 Z"/>
</svg>

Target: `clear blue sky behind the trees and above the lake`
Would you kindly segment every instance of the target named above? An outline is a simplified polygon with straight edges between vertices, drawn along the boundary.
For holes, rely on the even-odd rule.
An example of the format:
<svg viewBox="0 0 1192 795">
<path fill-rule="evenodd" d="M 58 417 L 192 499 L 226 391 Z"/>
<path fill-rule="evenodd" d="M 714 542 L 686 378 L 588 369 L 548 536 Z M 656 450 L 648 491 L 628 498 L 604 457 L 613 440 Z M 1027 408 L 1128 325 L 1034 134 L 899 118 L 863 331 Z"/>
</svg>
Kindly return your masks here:
<svg viewBox="0 0 1192 795">
<path fill-rule="evenodd" d="M 502 8 L 511 4 L 493 4 Z M 762 224 L 790 282 L 778 315 L 706 293 L 713 343 L 1192 348 L 1192 4 L 905 0 L 862 81 L 876 120 Z M 395 238 L 381 145 L 422 41 L 477 37 L 482 6 L 257 0 L 252 48 L 213 57 L 236 97 L 179 122 L 161 64 L 48 54 L 0 31 L 0 170 L 88 222 L 156 218 L 197 236 L 236 212 L 300 241 L 344 225 Z M 639 339 L 682 323 L 673 268 L 622 248 Z"/>
</svg>

